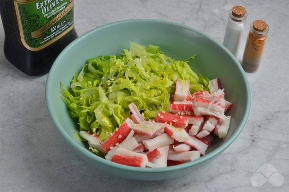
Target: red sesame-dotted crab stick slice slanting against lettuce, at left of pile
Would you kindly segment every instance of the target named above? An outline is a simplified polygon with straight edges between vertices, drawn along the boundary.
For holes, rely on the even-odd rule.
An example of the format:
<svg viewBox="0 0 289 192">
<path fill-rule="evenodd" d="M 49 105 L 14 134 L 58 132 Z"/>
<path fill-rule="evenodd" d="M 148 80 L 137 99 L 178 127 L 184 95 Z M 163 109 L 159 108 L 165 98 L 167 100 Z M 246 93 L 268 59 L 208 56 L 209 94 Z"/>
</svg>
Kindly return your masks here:
<svg viewBox="0 0 289 192">
<path fill-rule="evenodd" d="M 121 143 L 126 136 L 130 133 L 131 129 L 128 124 L 124 122 L 118 129 L 116 129 L 112 136 L 110 136 L 105 142 L 101 144 L 102 149 L 105 152 L 108 152 L 115 145 Z"/>
</svg>

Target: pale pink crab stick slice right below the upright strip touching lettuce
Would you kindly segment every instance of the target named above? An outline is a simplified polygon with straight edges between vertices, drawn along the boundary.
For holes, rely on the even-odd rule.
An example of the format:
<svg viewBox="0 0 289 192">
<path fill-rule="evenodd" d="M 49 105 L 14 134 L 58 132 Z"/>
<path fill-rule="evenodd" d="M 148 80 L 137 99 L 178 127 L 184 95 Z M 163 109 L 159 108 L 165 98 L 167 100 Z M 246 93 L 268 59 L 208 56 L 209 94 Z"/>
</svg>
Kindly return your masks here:
<svg viewBox="0 0 289 192">
<path fill-rule="evenodd" d="M 138 124 L 132 124 L 131 120 L 126 120 L 130 129 L 134 130 L 135 133 L 153 136 L 158 131 L 165 127 L 165 124 L 156 123 L 156 122 L 140 122 Z"/>
</svg>

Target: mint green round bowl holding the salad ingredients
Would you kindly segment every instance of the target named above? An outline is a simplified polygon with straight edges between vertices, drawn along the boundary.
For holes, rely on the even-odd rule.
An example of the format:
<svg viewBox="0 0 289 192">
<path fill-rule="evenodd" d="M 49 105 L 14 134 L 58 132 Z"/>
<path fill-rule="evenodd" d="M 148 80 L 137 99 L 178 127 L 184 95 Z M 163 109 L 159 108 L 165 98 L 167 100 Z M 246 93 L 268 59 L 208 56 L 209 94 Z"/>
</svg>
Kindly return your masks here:
<svg viewBox="0 0 289 192">
<path fill-rule="evenodd" d="M 99 55 L 118 55 L 129 42 L 157 45 L 173 59 L 186 59 L 194 54 L 198 58 L 190 63 L 192 69 L 209 78 L 219 78 L 225 88 L 226 99 L 233 103 L 231 119 L 224 140 L 216 140 L 206 155 L 196 161 L 166 168 L 136 168 L 116 164 L 94 155 L 79 141 L 75 121 L 60 98 L 60 82 L 69 87 L 74 73 L 78 73 L 86 60 Z M 192 65 L 194 64 L 194 65 Z M 203 32 L 182 24 L 151 19 L 119 21 L 93 29 L 76 39 L 55 60 L 46 82 L 46 103 L 50 116 L 64 139 L 74 151 L 99 171 L 138 180 L 162 180 L 179 177 L 209 163 L 224 151 L 243 130 L 249 116 L 251 94 L 246 74 L 233 55 L 221 44 Z"/>
</svg>

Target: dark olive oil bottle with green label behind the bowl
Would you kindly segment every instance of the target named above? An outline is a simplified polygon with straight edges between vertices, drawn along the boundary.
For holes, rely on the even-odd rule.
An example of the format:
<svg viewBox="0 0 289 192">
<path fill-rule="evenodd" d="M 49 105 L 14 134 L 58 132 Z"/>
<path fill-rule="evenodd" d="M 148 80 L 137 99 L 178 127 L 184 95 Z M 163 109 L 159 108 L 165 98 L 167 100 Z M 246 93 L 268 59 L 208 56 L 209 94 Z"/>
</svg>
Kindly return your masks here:
<svg viewBox="0 0 289 192">
<path fill-rule="evenodd" d="M 5 57 L 30 76 L 49 72 L 77 37 L 73 0 L 1 0 Z"/>
</svg>

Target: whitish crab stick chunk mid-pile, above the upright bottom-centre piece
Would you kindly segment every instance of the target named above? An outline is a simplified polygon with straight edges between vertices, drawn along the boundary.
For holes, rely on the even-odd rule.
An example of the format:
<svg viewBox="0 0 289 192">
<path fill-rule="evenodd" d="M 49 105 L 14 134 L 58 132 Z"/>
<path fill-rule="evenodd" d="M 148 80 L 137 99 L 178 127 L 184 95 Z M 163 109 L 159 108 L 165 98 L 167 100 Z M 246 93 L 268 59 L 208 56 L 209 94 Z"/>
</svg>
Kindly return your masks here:
<svg viewBox="0 0 289 192">
<path fill-rule="evenodd" d="M 175 141 L 168 134 L 164 133 L 153 139 L 143 140 L 142 143 L 146 146 L 149 151 L 154 150 L 155 148 L 173 144 Z"/>
</svg>

